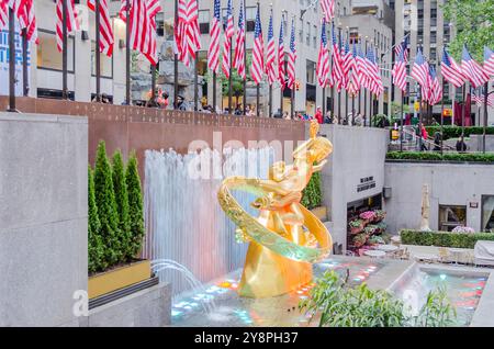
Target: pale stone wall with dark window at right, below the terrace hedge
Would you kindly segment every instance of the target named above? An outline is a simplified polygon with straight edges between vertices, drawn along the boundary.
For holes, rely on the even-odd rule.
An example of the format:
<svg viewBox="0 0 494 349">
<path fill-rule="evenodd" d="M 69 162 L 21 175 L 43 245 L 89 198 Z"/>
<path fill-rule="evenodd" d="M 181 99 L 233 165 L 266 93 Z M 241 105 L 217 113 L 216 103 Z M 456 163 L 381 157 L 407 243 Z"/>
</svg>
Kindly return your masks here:
<svg viewBox="0 0 494 349">
<path fill-rule="evenodd" d="M 431 229 L 439 228 L 439 205 L 464 205 L 467 225 L 479 232 L 482 195 L 494 195 L 493 179 L 492 165 L 386 162 L 384 187 L 392 190 L 391 199 L 385 200 L 389 229 L 397 233 L 419 227 L 422 189 L 428 184 Z"/>
</svg>

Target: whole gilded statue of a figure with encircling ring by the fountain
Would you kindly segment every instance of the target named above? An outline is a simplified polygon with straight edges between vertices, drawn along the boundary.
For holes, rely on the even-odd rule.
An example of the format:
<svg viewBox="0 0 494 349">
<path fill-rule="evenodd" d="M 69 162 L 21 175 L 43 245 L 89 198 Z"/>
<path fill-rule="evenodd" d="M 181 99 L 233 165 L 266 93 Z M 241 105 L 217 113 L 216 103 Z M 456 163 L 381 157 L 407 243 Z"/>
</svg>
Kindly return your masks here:
<svg viewBox="0 0 494 349">
<path fill-rule="evenodd" d="M 293 165 L 276 162 L 269 179 L 231 177 L 223 181 L 218 201 L 237 225 L 237 238 L 249 241 L 238 292 L 247 297 L 271 297 L 312 281 L 312 263 L 330 252 L 333 239 L 324 224 L 301 205 L 302 191 L 312 174 L 321 171 L 333 151 L 332 143 L 316 137 L 319 125 L 311 123 L 311 138 L 293 153 Z M 249 215 L 231 191 L 258 195 L 251 204 L 259 217 Z"/>
</svg>

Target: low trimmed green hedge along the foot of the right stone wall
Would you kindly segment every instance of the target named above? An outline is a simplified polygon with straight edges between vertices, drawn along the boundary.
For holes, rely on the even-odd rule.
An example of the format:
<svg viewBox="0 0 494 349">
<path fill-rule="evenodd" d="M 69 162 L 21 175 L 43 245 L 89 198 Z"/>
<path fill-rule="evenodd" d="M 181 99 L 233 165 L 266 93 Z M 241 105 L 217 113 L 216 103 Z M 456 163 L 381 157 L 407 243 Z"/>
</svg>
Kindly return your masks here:
<svg viewBox="0 0 494 349">
<path fill-rule="evenodd" d="M 437 246 L 452 248 L 473 248 L 479 240 L 494 241 L 492 233 L 448 233 L 419 232 L 403 229 L 400 232 L 403 245 Z"/>
</svg>

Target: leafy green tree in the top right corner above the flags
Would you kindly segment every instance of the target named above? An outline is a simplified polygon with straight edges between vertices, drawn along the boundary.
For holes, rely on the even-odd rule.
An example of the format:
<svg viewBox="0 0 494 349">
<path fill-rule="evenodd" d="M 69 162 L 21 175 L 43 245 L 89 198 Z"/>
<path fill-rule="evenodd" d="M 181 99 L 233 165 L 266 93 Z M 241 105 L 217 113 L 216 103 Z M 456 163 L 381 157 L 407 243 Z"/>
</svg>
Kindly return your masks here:
<svg viewBox="0 0 494 349">
<path fill-rule="evenodd" d="M 449 0 L 442 5 L 446 20 L 457 30 L 450 43 L 450 52 L 457 60 L 461 59 L 463 44 L 480 63 L 483 48 L 494 46 L 494 0 Z"/>
</svg>

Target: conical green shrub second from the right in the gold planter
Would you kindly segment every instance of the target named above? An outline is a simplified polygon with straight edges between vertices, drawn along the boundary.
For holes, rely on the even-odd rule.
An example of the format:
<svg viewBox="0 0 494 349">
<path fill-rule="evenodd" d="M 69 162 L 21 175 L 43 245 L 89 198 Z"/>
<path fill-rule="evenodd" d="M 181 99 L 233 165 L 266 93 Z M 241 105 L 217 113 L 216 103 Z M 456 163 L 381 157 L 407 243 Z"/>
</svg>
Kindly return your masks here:
<svg viewBox="0 0 494 349">
<path fill-rule="evenodd" d="M 116 211 L 119 214 L 119 241 L 121 246 L 120 257 L 122 262 L 128 260 L 132 246 L 131 222 L 128 215 L 128 193 L 125 181 L 125 168 L 122 153 L 116 150 L 113 155 L 113 189 L 115 193 Z"/>
</svg>

